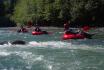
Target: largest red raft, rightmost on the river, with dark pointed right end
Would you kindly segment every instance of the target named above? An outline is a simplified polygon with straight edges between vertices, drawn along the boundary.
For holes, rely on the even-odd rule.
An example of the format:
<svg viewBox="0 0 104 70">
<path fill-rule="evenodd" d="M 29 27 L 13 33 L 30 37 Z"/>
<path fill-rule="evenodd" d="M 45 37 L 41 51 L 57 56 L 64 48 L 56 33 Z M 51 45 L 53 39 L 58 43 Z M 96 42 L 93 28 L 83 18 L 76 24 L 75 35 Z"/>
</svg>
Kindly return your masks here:
<svg viewBox="0 0 104 70">
<path fill-rule="evenodd" d="M 81 31 L 79 29 L 69 29 L 63 34 L 63 39 L 91 39 L 94 34 L 89 34 L 87 32 Z"/>
</svg>

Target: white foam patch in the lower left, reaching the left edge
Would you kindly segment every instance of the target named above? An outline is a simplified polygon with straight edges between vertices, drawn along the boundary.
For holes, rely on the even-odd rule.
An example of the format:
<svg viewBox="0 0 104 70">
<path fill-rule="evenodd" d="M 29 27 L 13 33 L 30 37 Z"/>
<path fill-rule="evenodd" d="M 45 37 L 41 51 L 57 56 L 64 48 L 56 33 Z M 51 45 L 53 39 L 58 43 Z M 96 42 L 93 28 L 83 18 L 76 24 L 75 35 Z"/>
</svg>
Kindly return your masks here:
<svg viewBox="0 0 104 70">
<path fill-rule="evenodd" d="M 12 54 L 21 57 L 25 61 L 25 63 L 27 64 L 26 68 L 28 68 L 28 69 L 31 69 L 32 65 L 34 63 L 44 61 L 43 55 L 35 55 L 32 52 L 27 52 L 27 51 L 10 51 L 10 52 L 0 51 L 0 57 L 10 56 Z"/>
</svg>

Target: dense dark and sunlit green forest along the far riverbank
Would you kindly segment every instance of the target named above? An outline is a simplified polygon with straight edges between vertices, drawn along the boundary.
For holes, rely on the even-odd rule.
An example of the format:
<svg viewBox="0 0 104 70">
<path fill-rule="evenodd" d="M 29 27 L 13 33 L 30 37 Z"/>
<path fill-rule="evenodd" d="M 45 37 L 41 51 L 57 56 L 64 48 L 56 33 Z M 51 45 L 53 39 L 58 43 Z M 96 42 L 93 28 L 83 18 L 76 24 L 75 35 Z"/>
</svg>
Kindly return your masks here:
<svg viewBox="0 0 104 70">
<path fill-rule="evenodd" d="M 0 27 L 104 26 L 104 0 L 0 0 Z"/>
</svg>

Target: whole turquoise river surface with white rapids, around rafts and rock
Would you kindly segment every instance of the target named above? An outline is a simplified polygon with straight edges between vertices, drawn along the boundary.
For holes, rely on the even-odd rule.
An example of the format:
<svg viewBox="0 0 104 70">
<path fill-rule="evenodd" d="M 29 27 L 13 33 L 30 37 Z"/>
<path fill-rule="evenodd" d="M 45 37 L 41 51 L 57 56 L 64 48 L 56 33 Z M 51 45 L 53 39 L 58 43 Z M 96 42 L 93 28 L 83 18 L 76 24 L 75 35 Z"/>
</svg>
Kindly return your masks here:
<svg viewBox="0 0 104 70">
<path fill-rule="evenodd" d="M 63 30 L 46 28 L 49 35 L 17 33 L 0 28 L 0 42 L 24 40 L 26 45 L 0 45 L 0 70 L 104 70 L 104 30 L 93 39 L 62 40 Z"/>
</svg>

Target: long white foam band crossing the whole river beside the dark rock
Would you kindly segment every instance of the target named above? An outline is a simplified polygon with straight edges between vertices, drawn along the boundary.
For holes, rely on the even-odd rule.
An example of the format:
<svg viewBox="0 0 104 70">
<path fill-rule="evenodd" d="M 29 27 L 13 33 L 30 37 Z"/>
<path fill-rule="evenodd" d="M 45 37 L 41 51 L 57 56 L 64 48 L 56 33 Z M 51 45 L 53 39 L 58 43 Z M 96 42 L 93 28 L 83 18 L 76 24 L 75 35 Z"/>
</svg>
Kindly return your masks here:
<svg viewBox="0 0 104 70">
<path fill-rule="evenodd" d="M 63 42 L 63 41 L 46 41 L 46 42 L 30 41 L 26 45 L 11 45 L 11 43 L 8 42 L 8 44 L 0 45 L 0 48 L 5 49 L 5 47 L 20 47 L 20 48 L 50 47 L 50 48 L 66 48 L 66 49 L 72 49 L 72 50 L 76 50 L 76 49 L 90 50 L 90 51 L 104 50 L 102 45 L 100 46 L 99 45 L 89 46 L 86 44 L 75 45 L 75 44 L 72 44 L 71 42 Z"/>
</svg>

